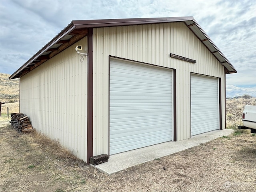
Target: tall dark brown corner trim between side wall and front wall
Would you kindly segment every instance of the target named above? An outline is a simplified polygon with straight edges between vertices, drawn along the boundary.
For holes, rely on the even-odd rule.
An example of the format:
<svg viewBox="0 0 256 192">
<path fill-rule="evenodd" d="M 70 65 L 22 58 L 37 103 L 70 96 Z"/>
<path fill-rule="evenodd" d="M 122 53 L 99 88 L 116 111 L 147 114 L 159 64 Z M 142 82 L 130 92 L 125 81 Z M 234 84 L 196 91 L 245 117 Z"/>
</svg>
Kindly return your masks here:
<svg viewBox="0 0 256 192">
<path fill-rule="evenodd" d="M 88 32 L 87 64 L 87 161 L 93 156 L 93 28 Z"/>
</svg>

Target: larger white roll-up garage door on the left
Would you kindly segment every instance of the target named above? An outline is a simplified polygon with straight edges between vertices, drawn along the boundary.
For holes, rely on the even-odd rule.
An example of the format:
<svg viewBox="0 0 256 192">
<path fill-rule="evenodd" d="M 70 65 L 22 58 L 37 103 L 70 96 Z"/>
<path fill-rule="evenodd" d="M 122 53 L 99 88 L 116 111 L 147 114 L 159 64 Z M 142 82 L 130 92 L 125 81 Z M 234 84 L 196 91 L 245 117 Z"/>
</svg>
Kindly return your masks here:
<svg viewBox="0 0 256 192">
<path fill-rule="evenodd" d="M 110 155 L 172 140 L 172 70 L 110 61 Z"/>
</svg>

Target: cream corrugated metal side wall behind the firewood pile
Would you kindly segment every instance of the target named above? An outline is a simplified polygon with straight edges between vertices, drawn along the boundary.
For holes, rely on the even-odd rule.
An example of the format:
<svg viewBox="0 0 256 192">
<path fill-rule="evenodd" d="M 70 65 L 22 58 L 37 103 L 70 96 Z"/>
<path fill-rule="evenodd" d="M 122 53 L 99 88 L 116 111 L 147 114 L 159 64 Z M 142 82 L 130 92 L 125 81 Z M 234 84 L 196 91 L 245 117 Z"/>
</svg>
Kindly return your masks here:
<svg viewBox="0 0 256 192">
<path fill-rule="evenodd" d="M 77 44 L 87 49 L 87 38 Z M 80 63 L 75 47 L 20 78 L 20 112 L 30 118 L 36 130 L 86 161 L 87 60 Z"/>
</svg>

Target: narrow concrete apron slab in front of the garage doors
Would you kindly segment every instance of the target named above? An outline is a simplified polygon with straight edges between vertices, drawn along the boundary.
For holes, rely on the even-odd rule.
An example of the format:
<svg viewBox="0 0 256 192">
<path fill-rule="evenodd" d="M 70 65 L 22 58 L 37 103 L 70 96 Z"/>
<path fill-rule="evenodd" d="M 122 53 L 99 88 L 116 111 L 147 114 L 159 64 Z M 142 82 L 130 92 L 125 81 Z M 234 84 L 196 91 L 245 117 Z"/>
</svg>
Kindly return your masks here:
<svg viewBox="0 0 256 192">
<path fill-rule="evenodd" d="M 202 143 L 209 142 L 218 137 L 228 136 L 233 131 L 234 130 L 231 129 L 214 130 L 192 136 L 192 138 L 186 140 L 181 140 L 177 142 L 170 141 L 127 152 L 122 152 L 119 154 L 110 155 L 108 162 L 96 166 L 92 164 L 90 165 L 97 168 L 100 172 L 110 175 L 115 172 L 124 170 L 128 167 L 142 164 L 144 162 L 154 160 L 155 158 L 167 156 L 200 145 Z"/>
</svg>

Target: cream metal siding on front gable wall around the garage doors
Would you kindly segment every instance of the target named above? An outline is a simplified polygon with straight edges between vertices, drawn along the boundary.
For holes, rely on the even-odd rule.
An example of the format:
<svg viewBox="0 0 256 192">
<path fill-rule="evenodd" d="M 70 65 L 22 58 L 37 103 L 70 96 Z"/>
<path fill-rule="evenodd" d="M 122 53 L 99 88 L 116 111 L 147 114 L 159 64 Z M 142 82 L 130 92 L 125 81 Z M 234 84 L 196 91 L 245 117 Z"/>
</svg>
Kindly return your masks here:
<svg viewBox="0 0 256 192">
<path fill-rule="evenodd" d="M 94 28 L 94 155 L 108 154 L 109 56 L 176 69 L 177 140 L 190 138 L 190 72 L 222 78 L 222 128 L 225 128 L 224 67 L 183 22 Z M 196 64 L 170 58 L 170 53 Z"/>
</svg>

